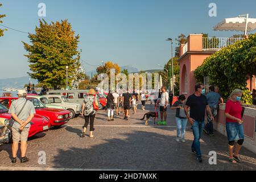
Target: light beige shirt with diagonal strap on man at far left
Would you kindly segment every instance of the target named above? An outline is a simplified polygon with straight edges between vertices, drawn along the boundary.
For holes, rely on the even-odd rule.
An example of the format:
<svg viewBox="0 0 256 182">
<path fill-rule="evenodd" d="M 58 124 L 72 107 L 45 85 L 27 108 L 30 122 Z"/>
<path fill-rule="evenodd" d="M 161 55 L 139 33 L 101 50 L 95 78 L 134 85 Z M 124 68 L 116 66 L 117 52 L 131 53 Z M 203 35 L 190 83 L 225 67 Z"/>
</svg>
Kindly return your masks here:
<svg viewBox="0 0 256 182">
<path fill-rule="evenodd" d="M 8 113 L 14 113 L 15 115 L 19 114 L 19 111 L 22 109 L 23 105 L 26 102 L 26 98 L 19 98 L 17 100 L 14 100 L 11 102 L 10 109 Z M 24 106 L 22 112 L 19 114 L 18 118 L 21 121 L 26 121 L 28 117 L 30 117 L 31 114 L 35 114 L 35 107 L 32 104 L 32 102 L 27 101 L 26 105 Z M 25 127 L 30 127 L 30 123 L 28 123 Z M 20 124 L 18 122 L 14 122 L 13 127 L 15 129 L 18 129 L 20 127 Z"/>
</svg>

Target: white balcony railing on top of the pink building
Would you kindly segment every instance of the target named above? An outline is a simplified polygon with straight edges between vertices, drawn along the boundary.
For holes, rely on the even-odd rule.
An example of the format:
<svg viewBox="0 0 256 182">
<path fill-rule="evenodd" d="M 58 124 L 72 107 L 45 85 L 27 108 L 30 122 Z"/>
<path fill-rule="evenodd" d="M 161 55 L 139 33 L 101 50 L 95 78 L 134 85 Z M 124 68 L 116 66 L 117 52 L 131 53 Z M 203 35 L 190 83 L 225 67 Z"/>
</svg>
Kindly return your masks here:
<svg viewBox="0 0 256 182">
<path fill-rule="evenodd" d="M 203 38 L 203 51 L 218 51 L 245 38 Z"/>
</svg>

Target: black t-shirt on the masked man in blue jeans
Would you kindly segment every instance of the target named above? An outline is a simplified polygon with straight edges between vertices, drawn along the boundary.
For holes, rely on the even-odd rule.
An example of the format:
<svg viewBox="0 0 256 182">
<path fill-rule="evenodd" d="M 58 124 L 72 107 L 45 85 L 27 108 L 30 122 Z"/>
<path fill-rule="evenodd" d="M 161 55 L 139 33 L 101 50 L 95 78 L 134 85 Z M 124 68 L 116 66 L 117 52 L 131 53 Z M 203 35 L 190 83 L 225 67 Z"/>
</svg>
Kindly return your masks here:
<svg viewBox="0 0 256 182">
<path fill-rule="evenodd" d="M 195 119 L 195 121 L 204 121 L 205 109 L 208 105 L 205 95 L 201 94 L 201 96 L 196 96 L 192 94 L 188 97 L 185 105 L 190 107 L 190 117 L 192 119 Z"/>
</svg>

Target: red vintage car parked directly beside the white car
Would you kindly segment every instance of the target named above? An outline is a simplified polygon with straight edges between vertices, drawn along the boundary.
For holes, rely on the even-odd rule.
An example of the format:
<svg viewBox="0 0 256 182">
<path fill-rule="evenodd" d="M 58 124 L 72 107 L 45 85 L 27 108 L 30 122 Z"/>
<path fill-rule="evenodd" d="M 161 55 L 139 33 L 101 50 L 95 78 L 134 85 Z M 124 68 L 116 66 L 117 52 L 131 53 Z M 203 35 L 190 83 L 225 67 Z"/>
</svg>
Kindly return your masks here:
<svg viewBox="0 0 256 182">
<path fill-rule="evenodd" d="M 10 108 L 11 102 L 18 99 L 18 97 L 0 97 L 0 103 Z M 27 97 L 31 101 L 36 110 L 36 114 L 42 115 L 49 120 L 49 127 L 60 127 L 71 119 L 71 112 L 65 109 L 52 109 L 46 107 L 38 98 Z"/>
</svg>

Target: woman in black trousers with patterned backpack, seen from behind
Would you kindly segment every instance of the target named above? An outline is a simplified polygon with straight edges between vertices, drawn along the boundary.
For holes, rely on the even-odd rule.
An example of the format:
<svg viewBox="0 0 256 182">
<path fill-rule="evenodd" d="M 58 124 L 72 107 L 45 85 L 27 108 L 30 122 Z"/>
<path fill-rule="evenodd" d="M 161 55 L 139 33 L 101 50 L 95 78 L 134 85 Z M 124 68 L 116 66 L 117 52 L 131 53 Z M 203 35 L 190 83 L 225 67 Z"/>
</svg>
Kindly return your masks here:
<svg viewBox="0 0 256 182">
<path fill-rule="evenodd" d="M 93 102 L 96 106 L 98 106 L 98 99 L 96 97 L 96 92 L 94 89 L 89 89 L 88 96 L 85 96 L 84 101 L 82 103 L 82 115 L 84 115 L 85 123 L 82 128 L 81 137 L 85 137 L 86 129 L 90 122 L 90 138 L 93 138 L 93 131 L 94 131 L 94 118 L 96 115 L 96 110 L 93 108 Z"/>
</svg>

